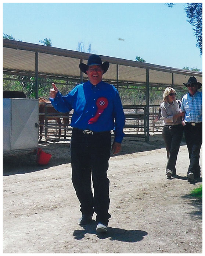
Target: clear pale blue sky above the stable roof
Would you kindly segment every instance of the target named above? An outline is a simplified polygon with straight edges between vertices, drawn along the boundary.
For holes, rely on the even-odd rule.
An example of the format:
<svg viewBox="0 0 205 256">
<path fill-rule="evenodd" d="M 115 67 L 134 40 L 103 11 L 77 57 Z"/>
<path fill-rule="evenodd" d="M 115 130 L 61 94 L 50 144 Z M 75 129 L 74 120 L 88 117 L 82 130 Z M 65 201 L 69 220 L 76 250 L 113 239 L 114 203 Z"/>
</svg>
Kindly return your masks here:
<svg viewBox="0 0 205 256">
<path fill-rule="evenodd" d="M 77 50 L 83 41 L 93 53 L 146 63 L 202 70 L 185 3 L 4 3 L 3 33 L 16 40 Z M 124 41 L 118 40 L 124 39 Z"/>
</svg>

